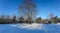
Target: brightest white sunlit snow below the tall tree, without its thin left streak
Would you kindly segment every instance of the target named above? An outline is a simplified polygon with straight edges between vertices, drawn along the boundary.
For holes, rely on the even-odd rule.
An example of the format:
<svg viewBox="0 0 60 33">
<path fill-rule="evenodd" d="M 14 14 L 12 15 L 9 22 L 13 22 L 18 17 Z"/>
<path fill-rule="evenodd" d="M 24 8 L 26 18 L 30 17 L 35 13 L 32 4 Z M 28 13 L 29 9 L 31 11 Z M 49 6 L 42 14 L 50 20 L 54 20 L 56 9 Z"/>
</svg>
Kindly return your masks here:
<svg viewBox="0 0 60 33">
<path fill-rule="evenodd" d="M 26 29 L 41 29 L 43 24 L 37 24 L 37 23 L 32 23 L 32 24 L 21 24 L 19 27 L 21 28 L 26 28 Z"/>
</svg>

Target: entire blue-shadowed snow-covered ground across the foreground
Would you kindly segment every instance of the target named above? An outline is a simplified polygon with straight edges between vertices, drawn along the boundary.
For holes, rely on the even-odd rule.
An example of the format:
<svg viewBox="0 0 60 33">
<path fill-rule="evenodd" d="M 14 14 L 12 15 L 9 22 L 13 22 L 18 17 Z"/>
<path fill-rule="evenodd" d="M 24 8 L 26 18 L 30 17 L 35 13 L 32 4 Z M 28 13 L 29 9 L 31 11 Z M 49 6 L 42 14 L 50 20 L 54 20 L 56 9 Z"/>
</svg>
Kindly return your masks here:
<svg viewBox="0 0 60 33">
<path fill-rule="evenodd" d="M 60 24 L 0 24 L 0 33 L 60 33 Z"/>
</svg>

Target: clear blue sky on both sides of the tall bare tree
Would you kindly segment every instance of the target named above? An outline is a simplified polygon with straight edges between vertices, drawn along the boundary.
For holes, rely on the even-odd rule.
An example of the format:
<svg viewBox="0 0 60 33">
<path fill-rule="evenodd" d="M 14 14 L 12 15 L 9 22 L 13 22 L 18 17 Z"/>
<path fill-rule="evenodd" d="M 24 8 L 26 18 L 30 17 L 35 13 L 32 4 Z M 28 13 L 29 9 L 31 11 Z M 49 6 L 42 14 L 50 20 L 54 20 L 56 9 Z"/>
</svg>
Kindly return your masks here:
<svg viewBox="0 0 60 33">
<path fill-rule="evenodd" d="M 51 12 L 60 17 L 60 0 L 34 0 L 34 2 L 39 10 L 37 17 L 47 18 Z M 22 0 L 0 0 L 0 14 L 17 14 L 21 3 Z"/>
</svg>

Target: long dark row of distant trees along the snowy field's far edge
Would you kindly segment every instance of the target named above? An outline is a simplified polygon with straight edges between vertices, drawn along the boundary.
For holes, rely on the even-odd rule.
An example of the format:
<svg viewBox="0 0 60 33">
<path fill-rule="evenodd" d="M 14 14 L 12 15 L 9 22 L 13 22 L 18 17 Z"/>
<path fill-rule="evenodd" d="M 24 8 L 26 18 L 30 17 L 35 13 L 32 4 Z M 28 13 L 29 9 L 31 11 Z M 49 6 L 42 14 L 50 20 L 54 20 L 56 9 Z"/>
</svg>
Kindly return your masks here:
<svg viewBox="0 0 60 33">
<path fill-rule="evenodd" d="M 51 17 L 50 19 L 42 19 L 41 17 L 36 18 L 31 21 L 31 18 L 24 19 L 23 16 L 17 18 L 16 16 L 0 15 L 0 24 L 10 24 L 10 23 L 60 23 L 60 18 L 57 16 Z"/>
</svg>

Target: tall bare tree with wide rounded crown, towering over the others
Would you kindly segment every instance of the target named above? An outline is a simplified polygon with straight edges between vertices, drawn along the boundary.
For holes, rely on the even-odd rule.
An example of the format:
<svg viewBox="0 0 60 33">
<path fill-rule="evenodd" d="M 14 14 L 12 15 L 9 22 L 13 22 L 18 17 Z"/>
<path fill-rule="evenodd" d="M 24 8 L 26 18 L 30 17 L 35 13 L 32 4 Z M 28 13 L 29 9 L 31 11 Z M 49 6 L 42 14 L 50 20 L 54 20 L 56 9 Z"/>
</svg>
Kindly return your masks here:
<svg viewBox="0 0 60 33">
<path fill-rule="evenodd" d="M 19 13 L 22 13 L 24 17 L 27 17 L 27 19 L 32 19 L 36 17 L 37 15 L 37 9 L 36 5 L 33 2 L 33 0 L 23 0 L 23 3 L 21 6 L 19 6 Z"/>
</svg>

